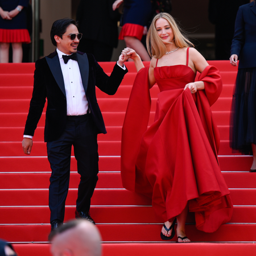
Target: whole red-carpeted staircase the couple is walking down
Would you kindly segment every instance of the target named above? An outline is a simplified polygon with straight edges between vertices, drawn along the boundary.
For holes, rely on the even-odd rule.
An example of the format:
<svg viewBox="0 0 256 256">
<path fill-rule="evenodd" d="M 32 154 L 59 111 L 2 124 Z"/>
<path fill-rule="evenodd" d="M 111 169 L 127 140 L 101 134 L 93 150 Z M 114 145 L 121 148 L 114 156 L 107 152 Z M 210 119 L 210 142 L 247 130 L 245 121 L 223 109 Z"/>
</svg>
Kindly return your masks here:
<svg viewBox="0 0 256 256">
<path fill-rule="evenodd" d="M 108 134 L 98 136 L 100 174 L 90 213 L 102 234 L 104 256 L 109 255 L 254 255 L 256 254 L 256 174 L 249 173 L 251 156 L 232 154 L 229 148 L 229 113 L 237 68 L 228 61 L 209 61 L 220 69 L 224 88 L 212 106 L 221 134 L 220 165 L 234 204 L 232 220 L 217 232 L 195 228 L 192 214 L 187 218 L 186 245 L 160 240 L 162 223 L 155 220 L 150 200 L 123 189 L 120 176 L 121 127 L 131 85 L 133 63 L 118 92 L 108 96 L 97 90 Z M 105 72 L 114 63 L 101 63 Z M 44 117 L 39 121 L 30 156 L 22 150 L 24 123 L 32 94 L 34 64 L 0 64 L 0 238 L 14 244 L 20 256 L 50 255 L 49 168 L 43 142 Z M 154 119 L 158 88 L 151 89 Z M 79 175 L 72 156 L 71 181 L 66 201 L 65 221 L 75 217 Z M 179 195 L 177 195 L 179 196 Z"/>
</svg>

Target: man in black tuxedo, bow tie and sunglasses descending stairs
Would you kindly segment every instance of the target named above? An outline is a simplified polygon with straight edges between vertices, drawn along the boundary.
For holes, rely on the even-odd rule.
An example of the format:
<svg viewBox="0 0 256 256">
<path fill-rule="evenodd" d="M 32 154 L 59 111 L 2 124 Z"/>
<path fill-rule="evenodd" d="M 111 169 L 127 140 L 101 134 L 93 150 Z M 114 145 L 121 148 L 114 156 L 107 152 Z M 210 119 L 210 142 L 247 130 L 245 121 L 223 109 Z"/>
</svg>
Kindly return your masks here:
<svg viewBox="0 0 256 256">
<path fill-rule="evenodd" d="M 23 151 L 29 155 L 47 98 L 44 141 L 52 169 L 49 240 L 64 221 L 72 145 L 81 175 L 75 215 L 94 223 L 89 209 L 98 180 L 97 134 L 106 133 L 95 86 L 113 95 L 127 73 L 123 64 L 126 58 L 120 55 L 111 75 L 106 75 L 93 55 L 77 51 L 80 39 L 75 20 L 60 19 L 53 23 L 51 40 L 57 49 L 35 63 L 34 90 L 22 141 Z"/>
</svg>

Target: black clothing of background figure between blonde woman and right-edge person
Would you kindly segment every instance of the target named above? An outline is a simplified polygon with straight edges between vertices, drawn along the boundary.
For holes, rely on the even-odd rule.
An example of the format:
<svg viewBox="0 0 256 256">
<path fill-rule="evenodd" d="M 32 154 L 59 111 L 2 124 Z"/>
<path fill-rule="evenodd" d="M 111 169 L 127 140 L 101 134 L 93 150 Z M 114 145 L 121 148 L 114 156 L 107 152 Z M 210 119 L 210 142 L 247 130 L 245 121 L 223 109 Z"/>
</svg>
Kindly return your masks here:
<svg viewBox="0 0 256 256">
<path fill-rule="evenodd" d="M 209 21 L 215 25 L 215 57 L 229 60 L 238 8 L 249 0 L 209 0 Z"/>
</svg>

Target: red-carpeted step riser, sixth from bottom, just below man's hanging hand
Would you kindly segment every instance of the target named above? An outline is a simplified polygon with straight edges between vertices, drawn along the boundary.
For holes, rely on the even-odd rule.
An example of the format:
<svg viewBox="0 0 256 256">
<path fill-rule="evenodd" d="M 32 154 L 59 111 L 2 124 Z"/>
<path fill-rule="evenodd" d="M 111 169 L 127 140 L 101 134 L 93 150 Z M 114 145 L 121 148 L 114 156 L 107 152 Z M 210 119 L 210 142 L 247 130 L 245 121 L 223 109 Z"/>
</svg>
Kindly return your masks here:
<svg viewBox="0 0 256 256">
<path fill-rule="evenodd" d="M 20 144 L 20 150 L 21 144 Z M 2 157 L 0 172 L 50 172 L 47 156 Z M 253 162 L 252 156 L 218 156 L 221 171 L 248 172 Z M 120 171 L 120 156 L 100 156 L 100 171 Z M 71 171 L 77 171 L 75 157 L 71 157 Z"/>
</svg>

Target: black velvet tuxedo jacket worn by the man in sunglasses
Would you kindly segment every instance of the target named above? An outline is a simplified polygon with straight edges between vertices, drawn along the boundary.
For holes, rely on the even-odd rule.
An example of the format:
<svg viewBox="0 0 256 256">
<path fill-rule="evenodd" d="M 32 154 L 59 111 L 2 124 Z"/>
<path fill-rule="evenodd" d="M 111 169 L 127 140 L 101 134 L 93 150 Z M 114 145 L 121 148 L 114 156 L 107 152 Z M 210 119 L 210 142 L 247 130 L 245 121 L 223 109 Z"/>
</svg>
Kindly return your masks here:
<svg viewBox="0 0 256 256">
<path fill-rule="evenodd" d="M 110 76 L 94 59 L 93 55 L 77 52 L 77 61 L 82 78 L 82 84 L 89 103 L 90 112 L 97 133 L 106 133 L 105 124 L 96 99 L 96 88 L 113 95 L 117 92 L 123 76 L 128 72 L 115 64 Z M 47 98 L 46 126 L 44 141 L 55 141 L 63 133 L 67 119 L 67 100 L 65 86 L 57 52 L 51 53 L 35 63 L 34 90 L 27 116 L 25 135 L 34 136 L 36 126 L 42 115 Z"/>
</svg>

